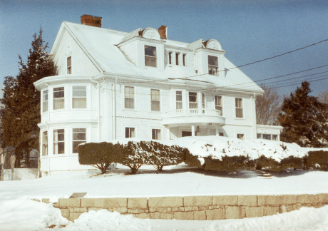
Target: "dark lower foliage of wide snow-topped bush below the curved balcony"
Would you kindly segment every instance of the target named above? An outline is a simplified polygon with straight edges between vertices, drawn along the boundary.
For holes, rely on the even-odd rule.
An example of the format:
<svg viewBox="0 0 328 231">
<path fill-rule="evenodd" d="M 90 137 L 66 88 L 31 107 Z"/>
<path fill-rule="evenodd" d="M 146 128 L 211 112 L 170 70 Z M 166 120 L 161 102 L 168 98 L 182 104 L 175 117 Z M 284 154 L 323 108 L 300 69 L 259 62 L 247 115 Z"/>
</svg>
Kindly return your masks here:
<svg viewBox="0 0 328 231">
<path fill-rule="evenodd" d="M 249 157 L 244 155 L 222 156 L 222 160 L 213 159 L 211 156 L 204 158 L 204 170 L 216 170 L 220 172 L 235 172 L 235 170 L 245 169 L 248 167 Z"/>
</svg>

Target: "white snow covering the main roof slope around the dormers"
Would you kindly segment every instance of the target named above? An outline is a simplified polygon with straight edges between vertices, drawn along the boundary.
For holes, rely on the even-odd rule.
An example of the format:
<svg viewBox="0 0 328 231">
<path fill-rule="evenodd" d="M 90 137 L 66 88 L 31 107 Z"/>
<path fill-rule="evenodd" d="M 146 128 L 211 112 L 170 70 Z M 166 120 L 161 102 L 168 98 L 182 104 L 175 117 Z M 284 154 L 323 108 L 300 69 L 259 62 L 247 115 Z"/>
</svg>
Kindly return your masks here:
<svg viewBox="0 0 328 231">
<path fill-rule="evenodd" d="M 165 71 L 160 71 L 158 68 L 139 68 L 133 63 L 130 63 L 116 45 L 126 39 L 131 39 L 131 36 L 138 34 L 140 29 L 126 33 L 94 26 L 74 24 L 66 21 L 63 22 L 63 25 L 65 25 L 68 30 L 76 36 L 76 39 L 81 43 L 81 46 L 86 49 L 105 73 L 117 73 L 118 75 L 132 75 L 135 77 L 143 76 L 155 80 L 191 77 L 190 80 L 205 81 L 215 84 L 215 86 L 219 88 L 232 86 L 232 88 L 263 93 L 262 88 L 257 86 L 256 83 L 245 75 L 245 73 L 242 73 L 238 68 L 235 68 L 235 65 L 227 60 L 227 58 L 224 58 L 225 69 L 228 70 L 225 71 L 224 78 L 207 74 L 198 75 L 193 69 L 185 66 L 167 66 L 165 67 Z M 198 44 L 200 41 L 203 40 L 200 39 L 195 43 Z M 193 43 L 166 40 L 165 44 L 180 48 L 188 48 L 188 46 Z"/>
</svg>

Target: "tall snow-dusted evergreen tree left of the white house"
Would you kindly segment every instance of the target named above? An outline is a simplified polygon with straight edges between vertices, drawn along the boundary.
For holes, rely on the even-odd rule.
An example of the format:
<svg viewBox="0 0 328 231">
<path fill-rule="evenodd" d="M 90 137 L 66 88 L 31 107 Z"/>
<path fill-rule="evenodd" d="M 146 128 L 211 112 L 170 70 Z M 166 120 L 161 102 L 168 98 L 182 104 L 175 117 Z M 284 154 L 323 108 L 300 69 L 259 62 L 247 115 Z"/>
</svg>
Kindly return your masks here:
<svg viewBox="0 0 328 231">
<path fill-rule="evenodd" d="M 42 29 L 34 34 L 29 56 L 24 63 L 19 56 L 19 73 L 16 78 L 7 76 L 4 81 L 4 105 L 1 116 L 1 146 L 14 146 L 22 158 L 29 157 L 32 149 L 39 150 L 40 92 L 34 82 L 47 76 L 56 76 L 56 66 L 47 53 Z"/>
</svg>

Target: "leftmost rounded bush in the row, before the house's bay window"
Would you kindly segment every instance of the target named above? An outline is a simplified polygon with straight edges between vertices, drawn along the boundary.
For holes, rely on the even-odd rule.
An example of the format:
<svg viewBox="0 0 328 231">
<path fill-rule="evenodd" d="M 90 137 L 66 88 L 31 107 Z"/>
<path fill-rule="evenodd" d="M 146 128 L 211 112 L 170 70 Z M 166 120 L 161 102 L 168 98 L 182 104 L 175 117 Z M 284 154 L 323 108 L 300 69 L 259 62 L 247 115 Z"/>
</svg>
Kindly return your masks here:
<svg viewBox="0 0 328 231">
<path fill-rule="evenodd" d="M 85 143 L 78 145 L 78 162 L 80 165 L 91 165 L 106 173 L 111 163 L 116 162 L 116 152 L 112 143 Z"/>
</svg>

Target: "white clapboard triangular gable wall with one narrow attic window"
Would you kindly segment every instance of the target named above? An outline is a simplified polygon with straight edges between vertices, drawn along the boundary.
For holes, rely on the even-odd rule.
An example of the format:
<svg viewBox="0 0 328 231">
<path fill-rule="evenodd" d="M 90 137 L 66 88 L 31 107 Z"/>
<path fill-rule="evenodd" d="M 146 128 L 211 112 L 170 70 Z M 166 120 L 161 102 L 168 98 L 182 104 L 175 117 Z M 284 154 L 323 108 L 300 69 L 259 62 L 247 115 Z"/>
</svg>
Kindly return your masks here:
<svg viewBox="0 0 328 231">
<path fill-rule="evenodd" d="M 98 68 L 91 62 L 91 59 L 88 58 L 82 48 L 78 46 L 78 43 L 68 34 L 68 31 L 65 31 L 58 51 L 53 57 L 58 66 L 58 75 L 67 73 L 66 62 L 68 56 L 72 57 L 72 74 L 92 76 L 100 73 Z"/>
</svg>

